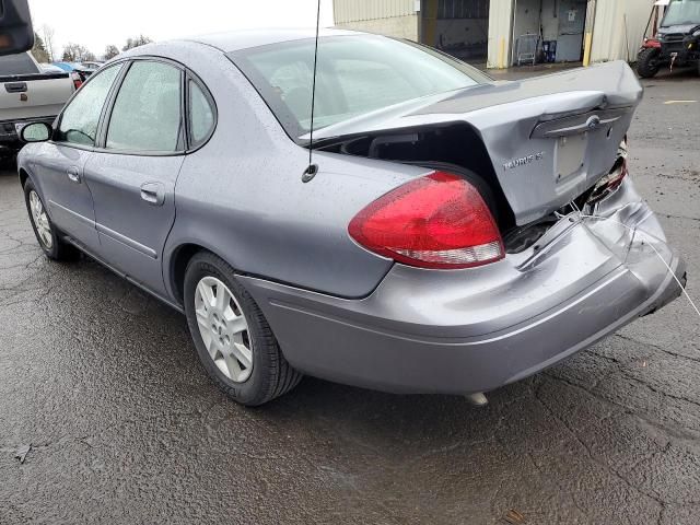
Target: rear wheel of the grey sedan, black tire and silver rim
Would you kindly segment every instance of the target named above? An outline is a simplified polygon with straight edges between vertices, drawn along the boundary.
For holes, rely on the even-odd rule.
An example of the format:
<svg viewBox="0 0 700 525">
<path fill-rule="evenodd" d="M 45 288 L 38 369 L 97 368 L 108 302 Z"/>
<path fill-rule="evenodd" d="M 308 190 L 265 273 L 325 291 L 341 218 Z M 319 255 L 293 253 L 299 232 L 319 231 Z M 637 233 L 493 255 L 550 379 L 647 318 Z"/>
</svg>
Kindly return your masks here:
<svg viewBox="0 0 700 525">
<path fill-rule="evenodd" d="M 187 265 L 184 292 L 199 359 L 231 399 L 255 407 L 299 384 L 302 374 L 284 359 L 265 315 L 231 266 L 200 252 Z"/>
</svg>

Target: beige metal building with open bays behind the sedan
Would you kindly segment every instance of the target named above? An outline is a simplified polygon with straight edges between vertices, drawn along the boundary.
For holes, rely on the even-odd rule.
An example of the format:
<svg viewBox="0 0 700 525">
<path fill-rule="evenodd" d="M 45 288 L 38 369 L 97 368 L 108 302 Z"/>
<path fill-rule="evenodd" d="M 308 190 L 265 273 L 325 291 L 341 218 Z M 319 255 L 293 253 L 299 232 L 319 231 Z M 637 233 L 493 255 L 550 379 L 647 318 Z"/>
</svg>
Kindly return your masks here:
<svg viewBox="0 0 700 525">
<path fill-rule="evenodd" d="M 338 27 L 438 47 L 506 68 L 634 60 L 654 0 L 334 0 Z"/>
</svg>

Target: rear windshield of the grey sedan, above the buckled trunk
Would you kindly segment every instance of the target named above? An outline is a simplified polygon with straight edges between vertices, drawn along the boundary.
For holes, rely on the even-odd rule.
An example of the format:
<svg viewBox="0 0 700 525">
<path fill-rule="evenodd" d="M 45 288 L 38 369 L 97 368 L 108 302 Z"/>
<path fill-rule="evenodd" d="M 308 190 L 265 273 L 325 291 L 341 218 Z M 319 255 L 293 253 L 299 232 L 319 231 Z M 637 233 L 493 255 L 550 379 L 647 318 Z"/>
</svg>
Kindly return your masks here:
<svg viewBox="0 0 700 525">
<path fill-rule="evenodd" d="M 243 49 L 229 57 L 290 137 L 311 130 L 313 38 Z M 314 129 L 489 80 L 459 60 L 412 43 L 375 35 L 322 38 Z"/>
</svg>

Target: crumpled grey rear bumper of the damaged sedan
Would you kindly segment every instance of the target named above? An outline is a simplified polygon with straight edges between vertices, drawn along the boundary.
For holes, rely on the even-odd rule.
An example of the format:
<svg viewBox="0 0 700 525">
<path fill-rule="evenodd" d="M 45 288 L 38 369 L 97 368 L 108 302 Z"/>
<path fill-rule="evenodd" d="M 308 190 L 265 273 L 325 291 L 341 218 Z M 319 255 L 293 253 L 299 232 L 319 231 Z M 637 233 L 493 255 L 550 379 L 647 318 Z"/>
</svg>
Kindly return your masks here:
<svg viewBox="0 0 700 525">
<path fill-rule="evenodd" d="M 363 300 L 240 279 L 298 370 L 387 392 L 467 394 L 527 377 L 663 307 L 685 275 L 628 180 L 521 254 L 456 271 L 395 265 Z"/>
</svg>

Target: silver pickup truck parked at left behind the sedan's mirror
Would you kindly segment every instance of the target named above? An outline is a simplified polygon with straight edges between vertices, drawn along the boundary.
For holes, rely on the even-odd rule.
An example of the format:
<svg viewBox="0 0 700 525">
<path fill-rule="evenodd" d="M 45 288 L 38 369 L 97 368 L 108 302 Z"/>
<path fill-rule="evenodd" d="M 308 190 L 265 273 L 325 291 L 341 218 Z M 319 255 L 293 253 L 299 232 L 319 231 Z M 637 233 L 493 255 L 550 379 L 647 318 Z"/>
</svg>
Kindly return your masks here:
<svg viewBox="0 0 700 525">
<path fill-rule="evenodd" d="M 52 124 L 81 82 L 69 72 L 43 70 L 28 52 L 0 57 L 0 156 L 22 148 L 18 130 L 25 124 Z"/>
</svg>

